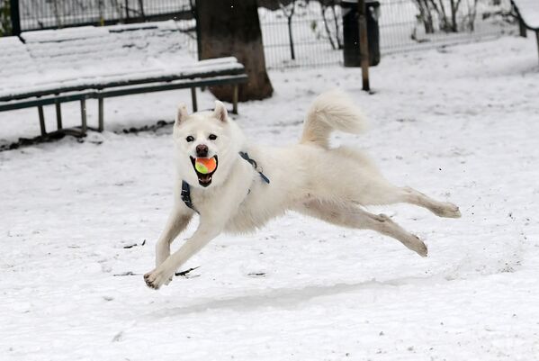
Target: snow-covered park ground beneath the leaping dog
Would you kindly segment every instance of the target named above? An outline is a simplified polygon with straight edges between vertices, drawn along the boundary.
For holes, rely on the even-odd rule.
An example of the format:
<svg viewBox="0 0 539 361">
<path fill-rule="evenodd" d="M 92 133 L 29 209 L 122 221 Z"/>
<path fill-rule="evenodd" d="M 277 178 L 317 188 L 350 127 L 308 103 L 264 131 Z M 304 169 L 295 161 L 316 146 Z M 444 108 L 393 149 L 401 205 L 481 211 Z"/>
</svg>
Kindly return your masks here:
<svg viewBox="0 0 539 361">
<path fill-rule="evenodd" d="M 356 68 L 273 71 L 274 97 L 240 104 L 251 140 L 278 145 L 298 139 L 319 92 L 350 92 L 372 130 L 334 142 L 461 207 L 460 220 L 373 209 L 425 239 L 427 258 L 290 213 L 220 236 L 184 266 L 200 266 L 188 277 L 148 289 L 141 274 L 171 205 L 171 130 L 121 130 L 171 120 L 188 91 L 107 100 L 102 134 L 0 152 L 0 359 L 536 360 L 535 47 L 507 37 L 386 57 L 371 70 L 373 95 Z M 77 104 L 64 117 L 79 122 Z M 35 110 L 0 123 L 2 144 L 39 134 Z"/>
</svg>

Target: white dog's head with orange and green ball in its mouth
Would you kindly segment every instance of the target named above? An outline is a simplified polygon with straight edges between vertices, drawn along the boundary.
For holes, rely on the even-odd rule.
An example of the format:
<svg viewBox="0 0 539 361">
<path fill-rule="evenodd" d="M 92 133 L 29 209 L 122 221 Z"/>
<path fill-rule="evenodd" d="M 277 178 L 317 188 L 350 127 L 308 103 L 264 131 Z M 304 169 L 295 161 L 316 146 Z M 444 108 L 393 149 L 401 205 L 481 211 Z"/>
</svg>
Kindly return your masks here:
<svg viewBox="0 0 539 361">
<path fill-rule="evenodd" d="M 174 125 L 175 158 L 182 179 L 194 186 L 219 185 L 242 149 L 244 137 L 229 119 L 225 105 L 189 115 L 180 104 Z"/>
</svg>

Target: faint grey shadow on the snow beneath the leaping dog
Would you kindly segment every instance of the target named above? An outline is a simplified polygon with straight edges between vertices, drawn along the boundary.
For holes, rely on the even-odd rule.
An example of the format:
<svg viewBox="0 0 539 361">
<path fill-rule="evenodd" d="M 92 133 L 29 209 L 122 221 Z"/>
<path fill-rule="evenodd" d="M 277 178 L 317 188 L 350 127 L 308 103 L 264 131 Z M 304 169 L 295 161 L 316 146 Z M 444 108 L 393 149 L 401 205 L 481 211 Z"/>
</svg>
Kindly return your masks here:
<svg viewBox="0 0 539 361">
<path fill-rule="evenodd" d="M 262 293 L 243 294 L 228 298 L 206 299 L 194 304 L 161 309 L 151 312 L 150 317 L 174 317 L 175 315 L 204 312 L 211 310 L 256 311 L 264 307 L 295 309 L 301 303 L 312 299 L 339 293 L 357 293 L 373 288 L 398 287 L 405 284 L 426 284 L 447 281 L 444 277 L 405 277 L 387 281 L 365 281 L 356 284 L 311 285 L 304 288 L 276 288 Z"/>
</svg>

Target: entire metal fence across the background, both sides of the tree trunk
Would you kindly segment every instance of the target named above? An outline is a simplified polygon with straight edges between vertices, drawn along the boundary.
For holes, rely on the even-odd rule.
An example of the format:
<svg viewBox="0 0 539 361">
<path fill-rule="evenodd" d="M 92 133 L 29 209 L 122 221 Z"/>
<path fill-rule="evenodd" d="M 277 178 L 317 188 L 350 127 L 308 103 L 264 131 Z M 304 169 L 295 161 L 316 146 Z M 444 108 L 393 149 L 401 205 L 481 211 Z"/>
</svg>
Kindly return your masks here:
<svg viewBox="0 0 539 361">
<path fill-rule="evenodd" d="M 481 41 L 517 29 L 508 16 L 510 0 L 461 0 L 454 16 L 443 14 L 441 6 L 433 6 L 445 5 L 445 9 L 450 9 L 450 0 L 380 2 L 378 23 L 382 56 Z M 340 0 L 274 0 L 274 3 L 276 10 L 259 8 L 268 68 L 343 63 Z M 279 3 L 283 4 L 281 8 Z M 191 53 L 196 57 L 194 4 L 195 0 L 19 1 L 22 31 L 175 19 L 179 29 L 192 30 L 187 48 L 193 50 Z"/>
</svg>

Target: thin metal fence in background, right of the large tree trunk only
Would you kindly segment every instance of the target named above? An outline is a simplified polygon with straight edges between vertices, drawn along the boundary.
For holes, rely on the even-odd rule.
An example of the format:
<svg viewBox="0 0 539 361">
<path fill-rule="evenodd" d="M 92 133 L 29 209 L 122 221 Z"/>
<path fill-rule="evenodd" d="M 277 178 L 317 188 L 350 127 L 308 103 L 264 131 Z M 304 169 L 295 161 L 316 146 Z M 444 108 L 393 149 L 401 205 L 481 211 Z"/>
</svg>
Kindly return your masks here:
<svg viewBox="0 0 539 361">
<path fill-rule="evenodd" d="M 342 64 L 342 8 L 331 1 L 295 2 L 292 16 L 292 59 L 289 25 L 290 9 L 260 9 L 265 59 L 268 68 L 313 67 Z M 460 2 L 454 29 L 448 28 L 451 14 L 436 13 L 434 8 L 421 9 L 424 0 L 380 0 L 377 14 L 382 56 L 401 51 L 423 50 L 463 42 L 481 41 L 516 32 L 509 15 L 509 0 L 469 0 Z M 429 4 L 445 4 L 448 0 L 431 0 Z M 326 4 L 325 6 L 322 4 Z M 288 5 L 290 8 L 291 5 Z M 424 15 L 421 16 L 421 11 Z M 432 28 L 426 26 L 430 11 Z M 438 8 L 438 11 L 441 10 Z M 449 12 L 449 10 L 446 10 Z M 449 24 L 447 24 L 449 23 Z M 427 23 L 428 25 L 428 23 Z M 454 32 L 456 30 L 456 32 Z"/>
</svg>

